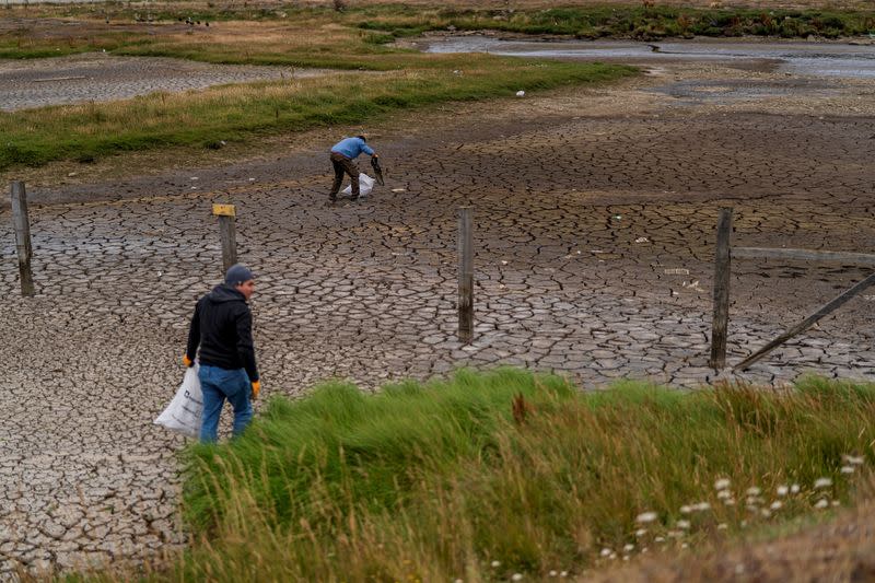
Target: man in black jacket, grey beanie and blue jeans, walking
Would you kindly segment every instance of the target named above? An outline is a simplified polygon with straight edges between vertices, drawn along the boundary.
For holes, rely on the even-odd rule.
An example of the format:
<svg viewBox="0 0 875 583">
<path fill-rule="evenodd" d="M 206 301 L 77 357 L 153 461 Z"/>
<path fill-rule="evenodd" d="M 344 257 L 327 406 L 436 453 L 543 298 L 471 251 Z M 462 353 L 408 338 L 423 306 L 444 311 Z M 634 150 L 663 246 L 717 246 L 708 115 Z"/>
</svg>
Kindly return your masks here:
<svg viewBox="0 0 875 583">
<path fill-rule="evenodd" d="M 203 389 L 200 441 L 218 439 L 225 399 L 234 408 L 234 436 L 243 433 L 253 418 L 249 394 L 255 399 L 261 389 L 253 345 L 253 314 L 246 303 L 253 291 L 253 272 L 237 264 L 228 270 L 224 283 L 213 288 L 195 307 L 183 362 L 191 366 L 200 346 L 198 378 Z"/>
</svg>

